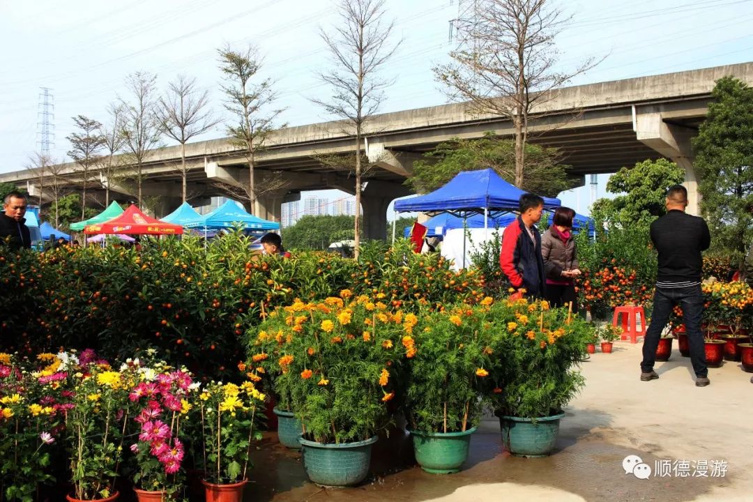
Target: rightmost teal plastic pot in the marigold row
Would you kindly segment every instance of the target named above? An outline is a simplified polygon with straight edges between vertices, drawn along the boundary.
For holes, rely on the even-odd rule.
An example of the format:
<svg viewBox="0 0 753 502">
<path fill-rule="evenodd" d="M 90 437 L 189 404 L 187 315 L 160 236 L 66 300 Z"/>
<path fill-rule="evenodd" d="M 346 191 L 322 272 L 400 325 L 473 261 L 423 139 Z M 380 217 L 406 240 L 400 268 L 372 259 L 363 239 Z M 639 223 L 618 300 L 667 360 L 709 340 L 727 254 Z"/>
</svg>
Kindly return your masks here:
<svg viewBox="0 0 753 502">
<path fill-rule="evenodd" d="M 541 418 L 499 415 L 502 444 L 516 457 L 546 457 L 554 449 L 563 416 L 564 413 Z"/>
</svg>

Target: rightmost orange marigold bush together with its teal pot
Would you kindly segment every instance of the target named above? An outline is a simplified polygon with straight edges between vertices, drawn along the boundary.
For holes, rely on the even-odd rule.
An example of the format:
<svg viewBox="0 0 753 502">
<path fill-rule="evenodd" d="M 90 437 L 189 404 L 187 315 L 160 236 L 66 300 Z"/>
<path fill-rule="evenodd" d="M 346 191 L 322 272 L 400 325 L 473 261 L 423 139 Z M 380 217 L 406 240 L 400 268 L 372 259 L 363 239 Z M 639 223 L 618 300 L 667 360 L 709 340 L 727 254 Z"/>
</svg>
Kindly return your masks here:
<svg viewBox="0 0 753 502">
<path fill-rule="evenodd" d="M 488 394 L 512 455 L 538 457 L 554 448 L 562 409 L 584 385 L 578 364 L 593 325 L 547 302 L 502 300 L 492 306 Z"/>
</svg>

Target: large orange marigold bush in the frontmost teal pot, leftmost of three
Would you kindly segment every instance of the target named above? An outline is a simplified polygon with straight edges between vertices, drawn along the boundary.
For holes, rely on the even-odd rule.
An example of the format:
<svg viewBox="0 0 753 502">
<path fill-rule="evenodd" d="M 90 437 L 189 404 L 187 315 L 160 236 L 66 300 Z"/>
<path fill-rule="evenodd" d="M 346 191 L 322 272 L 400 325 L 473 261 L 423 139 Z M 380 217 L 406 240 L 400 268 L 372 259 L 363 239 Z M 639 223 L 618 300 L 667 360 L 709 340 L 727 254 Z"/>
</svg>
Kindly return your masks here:
<svg viewBox="0 0 753 502">
<path fill-rule="evenodd" d="M 252 336 L 252 360 L 279 345 L 276 389 L 289 388 L 303 424 L 303 467 L 319 485 L 355 485 L 367 475 L 371 445 L 389 423 L 395 397 L 391 385 L 382 385 L 384 373 L 394 382 L 390 375 L 411 345 L 404 326 L 415 317 L 389 312 L 380 298 L 343 297 L 350 301 L 330 297 L 296 302 L 292 312 L 278 309 Z"/>
</svg>

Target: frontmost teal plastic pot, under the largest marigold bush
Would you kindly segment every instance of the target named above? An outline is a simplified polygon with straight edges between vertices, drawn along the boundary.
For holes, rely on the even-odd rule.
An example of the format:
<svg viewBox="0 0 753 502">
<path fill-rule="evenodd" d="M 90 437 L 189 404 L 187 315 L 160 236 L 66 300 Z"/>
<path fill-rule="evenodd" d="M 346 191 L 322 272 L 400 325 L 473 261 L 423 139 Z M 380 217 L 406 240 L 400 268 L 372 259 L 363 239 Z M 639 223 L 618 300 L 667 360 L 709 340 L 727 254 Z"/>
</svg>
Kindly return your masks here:
<svg viewBox="0 0 753 502">
<path fill-rule="evenodd" d="M 377 436 L 358 443 L 324 444 L 299 438 L 303 445 L 303 469 L 322 486 L 354 486 L 366 478 L 371 445 Z"/>
</svg>

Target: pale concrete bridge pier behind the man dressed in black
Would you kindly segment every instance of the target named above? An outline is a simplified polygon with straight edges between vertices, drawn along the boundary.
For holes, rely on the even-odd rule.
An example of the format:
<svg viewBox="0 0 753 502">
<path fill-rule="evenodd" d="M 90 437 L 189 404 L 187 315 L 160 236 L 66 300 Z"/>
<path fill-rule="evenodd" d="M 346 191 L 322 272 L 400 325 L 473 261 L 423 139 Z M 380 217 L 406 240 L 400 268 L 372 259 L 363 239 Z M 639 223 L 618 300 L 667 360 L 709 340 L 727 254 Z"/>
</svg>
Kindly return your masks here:
<svg viewBox="0 0 753 502">
<path fill-rule="evenodd" d="M 633 128 L 639 141 L 685 170 L 683 184 L 687 188 L 687 213 L 700 214 L 698 181 L 691 148 L 691 138 L 696 130 L 667 123 L 658 107 L 654 106 L 636 110 Z"/>
</svg>

